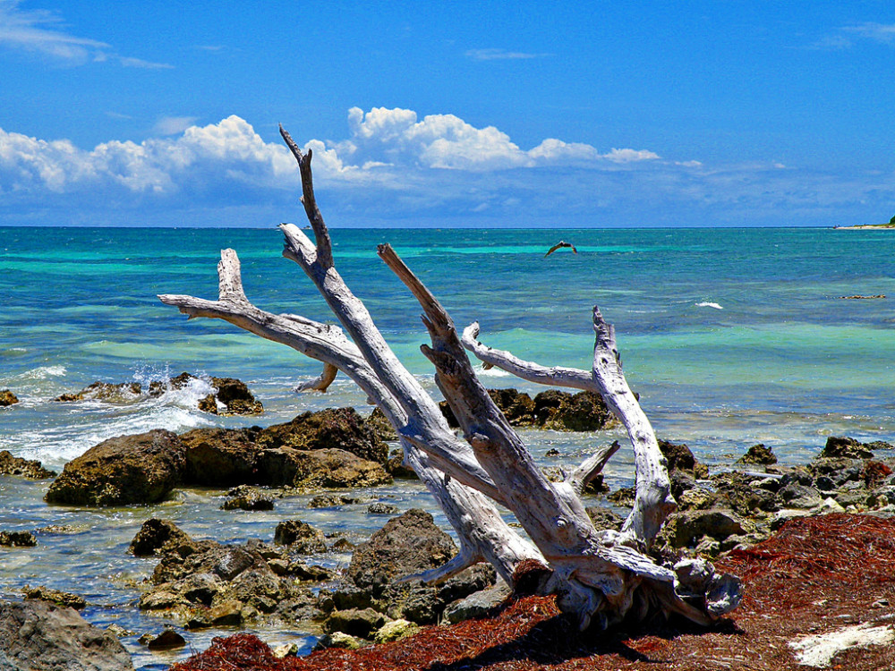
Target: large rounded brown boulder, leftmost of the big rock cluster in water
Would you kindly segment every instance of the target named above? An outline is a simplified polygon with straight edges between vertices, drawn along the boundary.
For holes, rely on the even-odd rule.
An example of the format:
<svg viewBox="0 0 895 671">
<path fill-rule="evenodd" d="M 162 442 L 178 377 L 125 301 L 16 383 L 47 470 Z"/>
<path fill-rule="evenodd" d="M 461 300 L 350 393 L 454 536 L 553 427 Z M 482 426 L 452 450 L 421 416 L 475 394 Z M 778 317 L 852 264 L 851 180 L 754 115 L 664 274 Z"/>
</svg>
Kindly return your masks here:
<svg viewBox="0 0 895 671">
<path fill-rule="evenodd" d="M 47 503 L 129 505 L 161 501 L 180 484 L 186 450 L 171 431 L 115 437 L 65 464 Z"/>
</svg>

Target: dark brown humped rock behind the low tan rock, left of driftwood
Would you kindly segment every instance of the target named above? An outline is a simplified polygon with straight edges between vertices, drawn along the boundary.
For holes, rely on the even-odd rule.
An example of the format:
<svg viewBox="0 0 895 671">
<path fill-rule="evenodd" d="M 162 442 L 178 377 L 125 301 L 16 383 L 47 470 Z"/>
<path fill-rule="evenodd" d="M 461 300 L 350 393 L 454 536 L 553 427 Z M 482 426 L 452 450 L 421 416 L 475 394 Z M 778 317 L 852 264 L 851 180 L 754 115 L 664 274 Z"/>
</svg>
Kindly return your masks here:
<svg viewBox="0 0 895 671">
<path fill-rule="evenodd" d="M 385 463 L 388 460 L 388 445 L 379 439 L 377 432 L 354 408 L 304 412 L 286 424 L 263 429 L 257 442 L 265 449 L 338 448 L 371 462 Z"/>
</svg>

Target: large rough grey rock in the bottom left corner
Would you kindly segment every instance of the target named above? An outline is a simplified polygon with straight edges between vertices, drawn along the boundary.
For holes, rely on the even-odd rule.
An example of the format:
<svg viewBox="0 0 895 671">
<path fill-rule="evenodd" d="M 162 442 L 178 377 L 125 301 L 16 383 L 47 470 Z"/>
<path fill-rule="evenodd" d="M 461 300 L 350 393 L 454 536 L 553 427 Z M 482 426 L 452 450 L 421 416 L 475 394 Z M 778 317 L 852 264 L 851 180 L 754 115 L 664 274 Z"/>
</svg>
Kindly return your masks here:
<svg viewBox="0 0 895 671">
<path fill-rule="evenodd" d="M 129 671 L 131 656 L 113 636 L 71 608 L 0 601 L 4 671 Z"/>
</svg>

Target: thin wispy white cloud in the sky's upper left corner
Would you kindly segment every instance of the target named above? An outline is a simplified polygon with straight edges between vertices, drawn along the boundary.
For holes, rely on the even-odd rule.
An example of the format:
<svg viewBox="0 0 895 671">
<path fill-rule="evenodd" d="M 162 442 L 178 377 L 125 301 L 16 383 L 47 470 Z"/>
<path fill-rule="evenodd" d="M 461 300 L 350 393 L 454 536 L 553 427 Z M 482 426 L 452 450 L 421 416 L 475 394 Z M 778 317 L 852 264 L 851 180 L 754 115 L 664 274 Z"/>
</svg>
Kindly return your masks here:
<svg viewBox="0 0 895 671">
<path fill-rule="evenodd" d="M 48 56 L 65 64 L 115 60 L 124 67 L 170 68 L 141 58 L 115 54 L 111 45 L 97 39 L 79 38 L 64 30 L 62 18 L 54 12 L 25 10 L 21 0 L 0 0 L 0 46 Z"/>
</svg>

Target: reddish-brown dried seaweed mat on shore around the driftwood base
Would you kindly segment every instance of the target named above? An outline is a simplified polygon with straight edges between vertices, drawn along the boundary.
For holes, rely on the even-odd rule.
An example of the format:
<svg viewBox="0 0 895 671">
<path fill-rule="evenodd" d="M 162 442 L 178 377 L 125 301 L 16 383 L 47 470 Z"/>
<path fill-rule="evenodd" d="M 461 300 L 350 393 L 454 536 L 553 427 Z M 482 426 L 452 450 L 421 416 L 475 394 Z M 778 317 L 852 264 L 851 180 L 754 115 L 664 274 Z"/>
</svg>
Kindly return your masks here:
<svg viewBox="0 0 895 671">
<path fill-rule="evenodd" d="M 848 625 L 895 624 L 895 521 L 868 515 L 798 518 L 716 565 L 742 576 L 745 598 L 710 629 L 680 621 L 577 633 L 552 598 L 511 599 L 493 616 L 430 626 L 361 650 L 277 659 L 258 638 L 217 638 L 171 671 L 571 671 L 572 669 L 806 669 L 790 641 Z M 895 646 L 840 652 L 830 668 L 895 668 Z"/>
</svg>

